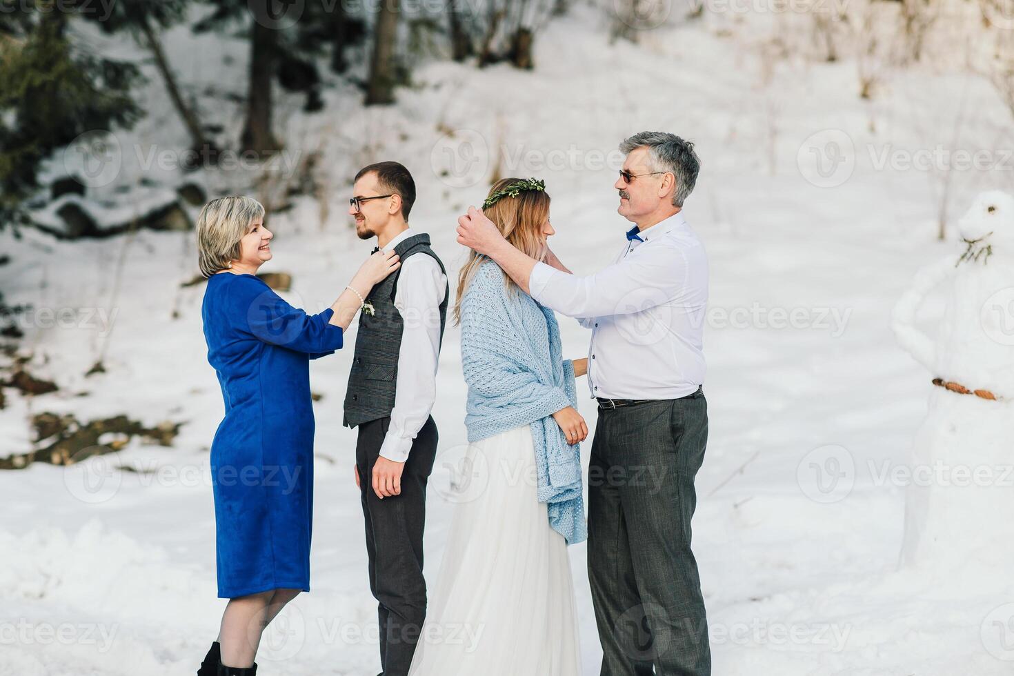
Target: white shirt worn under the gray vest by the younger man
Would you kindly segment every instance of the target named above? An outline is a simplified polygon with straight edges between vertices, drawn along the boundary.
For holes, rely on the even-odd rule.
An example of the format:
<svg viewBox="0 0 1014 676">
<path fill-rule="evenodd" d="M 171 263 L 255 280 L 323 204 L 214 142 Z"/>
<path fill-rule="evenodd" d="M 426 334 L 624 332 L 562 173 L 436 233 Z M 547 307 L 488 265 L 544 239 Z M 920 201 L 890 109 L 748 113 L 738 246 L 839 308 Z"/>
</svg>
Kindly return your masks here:
<svg viewBox="0 0 1014 676">
<path fill-rule="evenodd" d="M 383 247 L 389 251 L 403 240 L 421 234 L 405 230 Z M 394 407 L 380 455 L 405 462 L 412 442 L 423 429 L 437 399 L 437 359 L 440 356 L 440 303 L 447 293 L 447 277 L 433 256 L 417 253 L 402 264 L 394 291 L 394 307 L 405 328 L 397 353 Z"/>
</svg>

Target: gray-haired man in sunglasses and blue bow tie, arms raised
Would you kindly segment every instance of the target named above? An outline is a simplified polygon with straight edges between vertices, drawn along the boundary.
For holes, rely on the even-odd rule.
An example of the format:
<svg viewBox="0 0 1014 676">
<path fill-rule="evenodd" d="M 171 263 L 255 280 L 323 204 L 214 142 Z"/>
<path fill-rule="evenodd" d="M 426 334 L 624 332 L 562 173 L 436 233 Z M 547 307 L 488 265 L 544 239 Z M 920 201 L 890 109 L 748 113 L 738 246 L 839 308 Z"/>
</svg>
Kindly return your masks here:
<svg viewBox="0 0 1014 676">
<path fill-rule="evenodd" d="M 602 676 L 704 675 L 711 652 L 691 518 L 708 440 L 708 259 L 680 213 L 700 162 L 693 143 L 661 132 L 620 149 L 618 211 L 635 225 L 608 268 L 578 277 L 552 253 L 551 265 L 537 262 L 474 208 L 458 219 L 457 241 L 592 329 L 588 574 Z"/>
</svg>

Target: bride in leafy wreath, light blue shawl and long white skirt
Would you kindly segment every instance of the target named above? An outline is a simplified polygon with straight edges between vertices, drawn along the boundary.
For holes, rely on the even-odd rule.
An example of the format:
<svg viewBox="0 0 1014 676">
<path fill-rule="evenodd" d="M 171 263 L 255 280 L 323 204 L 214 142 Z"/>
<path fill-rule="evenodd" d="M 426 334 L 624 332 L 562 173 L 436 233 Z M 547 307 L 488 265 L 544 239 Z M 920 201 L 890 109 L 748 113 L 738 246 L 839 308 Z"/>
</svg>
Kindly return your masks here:
<svg viewBox="0 0 1014 676">
<path fill-rule="evenodd" d="M 483 210 L 518 249 L 555 261 L 550 197 L 504 178 Z M 455 508 L 410 676 L 577 676 L 579 647 L 567 545 L 587 537 L 574 377 L 553 311 L 473 251 L 454 317 L 468 383 L 464 465 L 480 495 Z M 477 476 L 481 473 L 482 476 Z"/>
</svg>

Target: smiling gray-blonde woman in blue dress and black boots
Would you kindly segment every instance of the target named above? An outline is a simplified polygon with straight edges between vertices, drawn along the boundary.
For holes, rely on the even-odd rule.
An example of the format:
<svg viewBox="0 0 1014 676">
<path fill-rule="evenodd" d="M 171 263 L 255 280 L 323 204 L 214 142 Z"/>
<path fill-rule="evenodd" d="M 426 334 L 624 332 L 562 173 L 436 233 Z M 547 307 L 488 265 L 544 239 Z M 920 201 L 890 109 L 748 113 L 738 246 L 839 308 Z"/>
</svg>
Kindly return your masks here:
<svg viewBox="0 0 1014 676">
<path fill-rule="evenodd" d="M 218 596 L 229 599 L 219 641 L 199 676 L 252 676 L 264 628 L 309 591 L 313 409 L 309 360 L 342 347 L 373 285 L 397 267 L 379 251 L 319 314 L 292 307 L 256 273 L 272 258 L 264 207 L 246 197 L 210 202 L 198 219 L 208 278 L 202 316 L 225 418 L 211 447 Z"/>
</svg>

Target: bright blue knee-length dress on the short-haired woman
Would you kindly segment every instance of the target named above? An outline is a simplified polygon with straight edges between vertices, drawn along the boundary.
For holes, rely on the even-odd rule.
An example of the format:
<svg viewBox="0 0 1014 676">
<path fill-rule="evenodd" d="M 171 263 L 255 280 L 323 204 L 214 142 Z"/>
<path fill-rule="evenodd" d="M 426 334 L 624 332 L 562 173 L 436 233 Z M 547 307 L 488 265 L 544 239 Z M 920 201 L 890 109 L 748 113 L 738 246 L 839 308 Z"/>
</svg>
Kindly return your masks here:
<svg viewBox="0 0 1014 676">
<path fill-rule="evenodd" d="M 254 275 L 208 280 L 201 315 L 225 400 L 211 445 L 220 598 L 309 591 L 309 360 L 342 347 L 332 314 L 292 307 Z"/>
</svg>

